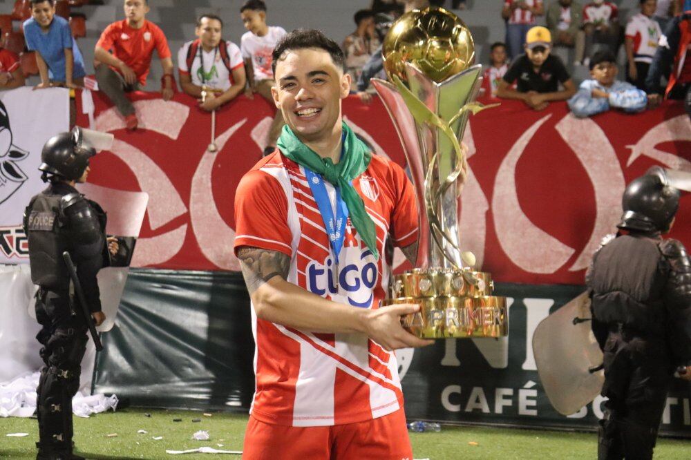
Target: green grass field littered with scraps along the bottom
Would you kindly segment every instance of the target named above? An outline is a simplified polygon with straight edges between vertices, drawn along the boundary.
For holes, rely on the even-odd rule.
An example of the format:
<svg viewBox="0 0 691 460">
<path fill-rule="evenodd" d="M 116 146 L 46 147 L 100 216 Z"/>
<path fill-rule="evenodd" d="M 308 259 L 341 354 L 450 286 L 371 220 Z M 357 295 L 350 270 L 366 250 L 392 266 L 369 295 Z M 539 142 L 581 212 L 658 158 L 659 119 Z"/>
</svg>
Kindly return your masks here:
<svg viewBox="0 0 691 460">
<path fill-rule="evenodd" d="M 146 412 L 151 413 L 147 417 Z M 173 419 L 182 419 L 174 422 Z M 201 419 L 193 422 L 193 419 Z M 75 417 L 77 452 L 88 459 L 211 459 L 211 454 L 169 455 L 166 449 L 187 450 L 209 446 L 242 450 L 247 416 L 214 412 L 127 409 Z M 146 430 L 146 434 L 138 433 Z M 207 430 L 209 441 L 194 441 L 192 434 Z M 6 437 L 25 432 L 28 437 Z M 117 437 L 108 434 L 117 433 Z M 158 441 L 153 437 L 163 437 Z M 30 459 L 36 455 L 38 439 L 35 419 L 0 419 L 0 458 Z M 594 459 L 597 437 L 592 433 L 547 432 L 508 428 L 443 426 L 442 432 L 411 433 L 415 459 Z M 470 443 L 477 443 L 471 445 Z M 223 447 L 218 446 L 222 444 Z M 656 459 L 689 459 L 689 441 L 659 439 Z M 224 455 L 227 458 L 239 458 Z M 301 459 L 309 460 L 309 459 Z M 368 460 L 368 459 L 363 459 Z"/>
</svg>

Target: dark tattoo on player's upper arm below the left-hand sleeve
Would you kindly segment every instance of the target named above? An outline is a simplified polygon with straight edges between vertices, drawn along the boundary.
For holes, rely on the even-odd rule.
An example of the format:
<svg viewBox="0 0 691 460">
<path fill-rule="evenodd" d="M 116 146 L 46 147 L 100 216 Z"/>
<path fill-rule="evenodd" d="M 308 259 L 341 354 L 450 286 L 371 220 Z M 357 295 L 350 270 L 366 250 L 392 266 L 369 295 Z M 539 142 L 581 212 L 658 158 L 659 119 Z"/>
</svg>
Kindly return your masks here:
<svg viewBox="0 0 691 460">
<path fill-rule="evenodd" d="M 281 276 L 284 280 L 288 277 L 290 257 L 282 252 L 243 247 L 238 251 L 238 259 L 250 296 L 274 276 Z"/>
</svg>

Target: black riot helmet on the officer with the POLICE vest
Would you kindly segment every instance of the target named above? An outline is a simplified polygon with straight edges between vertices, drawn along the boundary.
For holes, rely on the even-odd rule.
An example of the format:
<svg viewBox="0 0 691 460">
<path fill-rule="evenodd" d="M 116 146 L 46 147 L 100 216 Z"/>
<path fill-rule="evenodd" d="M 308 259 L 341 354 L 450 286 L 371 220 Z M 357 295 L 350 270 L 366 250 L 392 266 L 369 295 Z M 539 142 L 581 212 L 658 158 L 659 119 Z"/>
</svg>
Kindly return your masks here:
<svg viewBox="0 0 691 460">
<path fill-rule="evenodd" d="M 59 133 L 50 137 L 41 151 L 39 171 L 48 176 L 58 176 L 65 180 L 77 180 L 82 177 L 89 158 L 96 155 L 95 148 L 84 143 L 82 128 L 76 127 L 68 133 Z"/>
</svg>

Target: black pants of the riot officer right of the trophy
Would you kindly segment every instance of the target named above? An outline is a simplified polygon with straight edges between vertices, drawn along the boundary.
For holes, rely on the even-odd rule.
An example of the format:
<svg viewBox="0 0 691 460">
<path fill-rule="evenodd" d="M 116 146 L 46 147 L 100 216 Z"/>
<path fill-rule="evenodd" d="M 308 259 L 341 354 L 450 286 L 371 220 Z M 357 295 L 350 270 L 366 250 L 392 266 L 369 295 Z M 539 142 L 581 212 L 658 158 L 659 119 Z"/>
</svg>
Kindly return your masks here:
<svg viewBox="0 0 691 460">
<path fill-rule="evenodd" d="M 598 459 L 652 459 L 672 380 L 665 341 L 610 332 L 604 354 Z"/>
</svg>

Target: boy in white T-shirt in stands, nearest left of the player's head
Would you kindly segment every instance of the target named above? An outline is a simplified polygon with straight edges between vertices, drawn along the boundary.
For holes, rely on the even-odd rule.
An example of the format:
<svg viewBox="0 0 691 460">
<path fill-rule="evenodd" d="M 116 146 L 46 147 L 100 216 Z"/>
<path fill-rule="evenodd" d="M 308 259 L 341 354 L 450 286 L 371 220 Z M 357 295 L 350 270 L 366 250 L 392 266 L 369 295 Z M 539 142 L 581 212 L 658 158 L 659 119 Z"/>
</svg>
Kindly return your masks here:
<svg viewBox="0 0 691 460">
<path fill-rule="evenodd" d="M 269 104 L 274 106 L 274 97 L 271 87 L 274 86 L 274 73 L 272 71 L 272 52 L 283 35 L 285 29 L 278 26 L 267 26 L 266 4 L 263 0 L 247 0 L 240 7 L 240 17 L 247 32 L 240 39 L 240 50 L 245 59 L 245 71 L 247 72 L 247 90 L 245 95 L 250 99 L 254 93 L 259 93 Z M 276 150 L 276 141 L 283 128 L 283 115 L 276 111 L 274 121 L 267 133 L 264 154 L 268 155 Z"/>
</svg>

